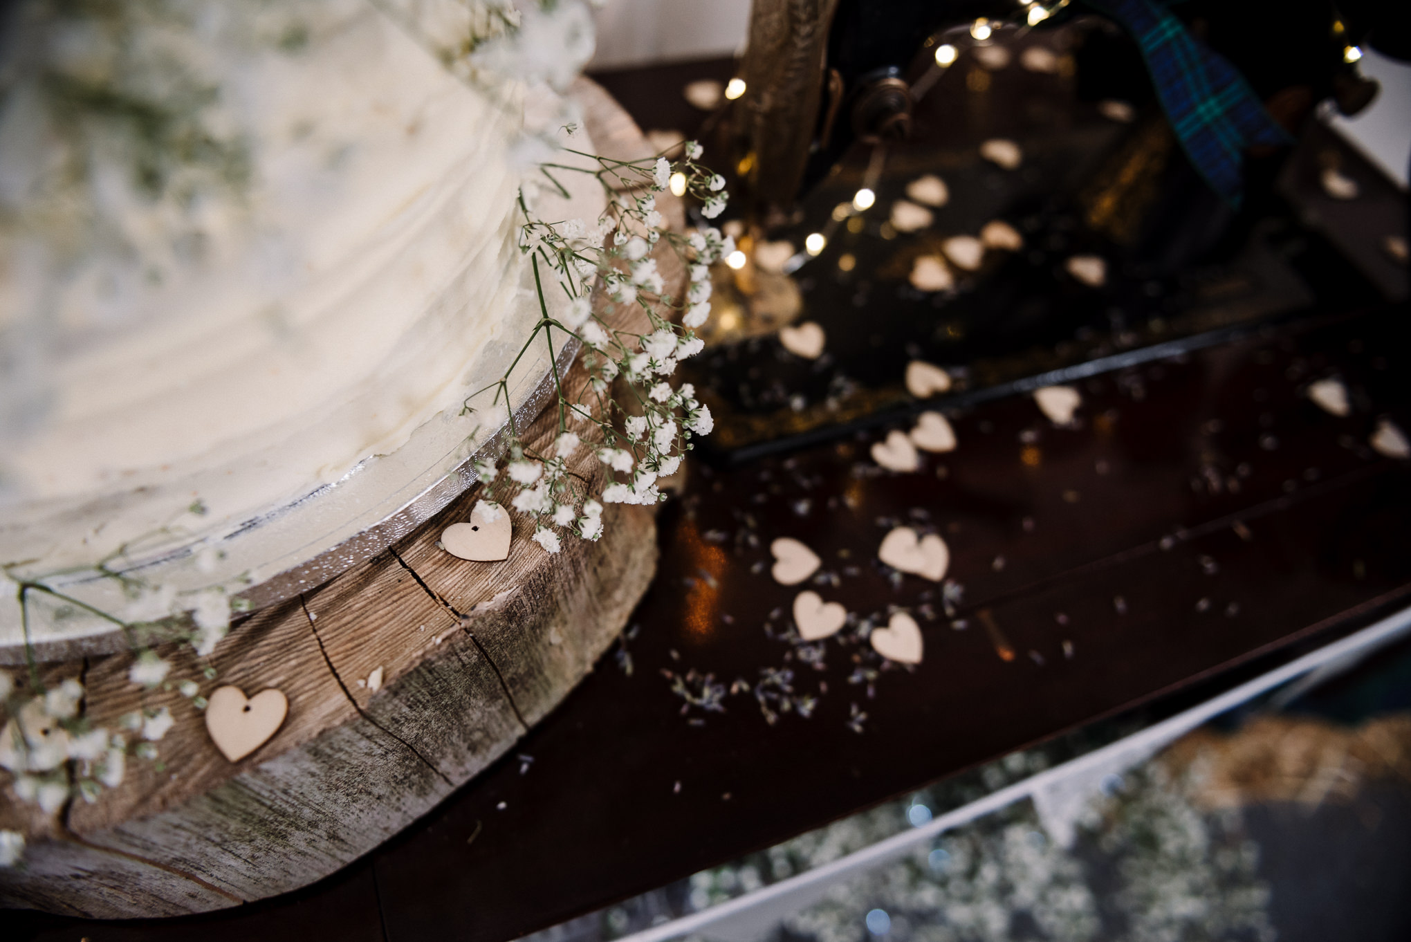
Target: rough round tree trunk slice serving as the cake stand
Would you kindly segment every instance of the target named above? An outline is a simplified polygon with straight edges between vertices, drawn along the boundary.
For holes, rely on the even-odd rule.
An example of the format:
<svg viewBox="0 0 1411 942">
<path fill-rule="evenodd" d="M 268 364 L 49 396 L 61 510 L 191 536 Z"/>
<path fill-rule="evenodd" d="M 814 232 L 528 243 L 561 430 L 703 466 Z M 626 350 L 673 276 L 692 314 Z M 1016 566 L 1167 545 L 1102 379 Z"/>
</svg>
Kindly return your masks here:
<svg viewBox="0 0 1411 942">
<path fill-rule="evenodd" d="M 652 152 L 597 85 L 580 80 L 574 97 L 600 154 Z M 679 224 L 680 204 L 659 202 Z M 579 362 L 566 384 L 586 382 Z M 543 451 L 557 430 L 550 408 L 525 440 Z M 600 482 L 591 451 L 580 448 L 570 465 Z M 387 840 L 502 756 L 626 623 L 655 573 L 656 525 L 648 508 L 610 505 L 600 542 L 569 537 L 550 556 L 516 519 L 507 560 L 467 563 L 436 540 L 477 499 L 478 488 L 385 553 L 250 616 L 217 646 L 219 677 L 202 683 L 203 694 L 233 684 L 289 699 L 281 729 L 238 763 L 216 750 L 186 698 L 131 684 L 130 654 L 44 666 L 47 683 L 83 681 L 95 725 L 119 729 L 128 711 L 164 705 L 176 723 L 159 743 L 164 766 L 130 759 L 119 788 L 52 816 L 18 801 L 0 770 L 0 828 L 28 842 L 20 866 L 0 869 L 0 903 L 161 917 L 285 893 Z M 169 678 L 200 677 L 188 646 L 159 653 L 172 661 Z M 365 680 L 378 667 L 384 681 L 373 692 Z"/>
</svg>

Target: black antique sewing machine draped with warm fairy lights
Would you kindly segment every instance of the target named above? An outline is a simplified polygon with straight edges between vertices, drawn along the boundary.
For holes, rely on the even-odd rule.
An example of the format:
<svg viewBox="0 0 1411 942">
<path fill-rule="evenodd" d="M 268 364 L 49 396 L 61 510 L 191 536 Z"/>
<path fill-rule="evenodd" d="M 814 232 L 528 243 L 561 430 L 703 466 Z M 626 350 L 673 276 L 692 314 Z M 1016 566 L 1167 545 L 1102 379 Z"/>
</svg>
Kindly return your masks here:
<svg viewBox="0 0 1411 942">
<path fill-rule="evenodd" d="M 1178 7 L 1288 134 L 1247 149 L 1232 199 L 1173 133 L 1141 47 L 1095 16 L 1116 6 L 755 3 L 745 90 L 713 138 L 731 155 L 742 257 L 717 285 L 718 345 L 697 381 L 721 419 L 708 447 L 738 460 L 889 422 L 917 408 L 900 388 L 916 358 L 951 372 L 948 402 L 962 406 L 1405 295 L 1401 262 L 1369 243 L 1404 226 L 1394 186 L 1314 117 L 1319 102 L 1352 114 L 1376 96 L 1355 44 L 1377 17 Z M 1016 166 L 981 157 L 993 138 L 1017 144 Z M 1363 183 L 1363 223 L 1312 206 L 1352 209 L 1321 192 L 1329 171 Z M 944 204 L 900 231 L 889 207 L 914 203 L 907 186 L 927 175 L 944 181 Z M 944 238 L 991 220 L 1023 248 L 951 265 L 940 292 L 909 279 Z M 1106 261 L 1103 283 L 1064 274 L 1078 254 Z M 768 340 L 807 320 L 827 333 L 821 357 Z"/>
</svg>

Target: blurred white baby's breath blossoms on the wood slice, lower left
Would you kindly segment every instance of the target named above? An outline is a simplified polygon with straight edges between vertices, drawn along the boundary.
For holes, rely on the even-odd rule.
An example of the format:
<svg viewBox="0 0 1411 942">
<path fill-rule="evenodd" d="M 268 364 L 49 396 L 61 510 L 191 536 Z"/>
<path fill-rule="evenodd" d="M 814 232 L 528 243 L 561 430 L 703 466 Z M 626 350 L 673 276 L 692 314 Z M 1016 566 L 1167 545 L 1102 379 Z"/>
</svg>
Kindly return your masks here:
<svg viewBox="0 0 1411 942">
<path fill-rule="evenodd" d="M 155 675 L 158 668 L 144 657 L 138 657 L 133 671 Z M 165 675 L 165 663 L 159 673 Z M 73 678 L 37 694 L 17 694 L 10 675 L 0 671 L 0 702 L 10 718 L 0 728 L 0 769 L 14 774 L 16 795 L 37 804 L 45 814 L 55 814 L 75 795 L 96 801 L 102 788 L 121 784 L 127 770 L 128 738 L 92 726 L 80 716 L 83 697 L 83 685 Z M 155 759 L 152 743 L 162 739 L 174 722 L 165 706 L 124 716 L 123 725 L 140 740 L 131 753 Z M 7 836 L 10 833 L 0 832 L 0 866 L 14 863 L 24 848 L 24 838 Z"/>
</svg>

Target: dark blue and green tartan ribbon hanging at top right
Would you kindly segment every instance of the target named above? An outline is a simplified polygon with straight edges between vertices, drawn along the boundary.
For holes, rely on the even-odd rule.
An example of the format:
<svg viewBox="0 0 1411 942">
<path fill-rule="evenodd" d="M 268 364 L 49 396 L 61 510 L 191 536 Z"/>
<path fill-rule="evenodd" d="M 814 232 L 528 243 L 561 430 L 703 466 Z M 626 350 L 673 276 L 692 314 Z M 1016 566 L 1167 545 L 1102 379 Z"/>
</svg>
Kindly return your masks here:
<svg viewBox="0 0 1411 942">
<path fill-rule="evenodd" d="M 1191 164 L 1211 189 L 1237 206 L 1245 148 L 1287 144 L 1284 128 L 1268 116 L 1235 66 L 1192 37 L 1160 3 L 1088 3 L 1136 39 L 1171 130 Z"/>
</svg>

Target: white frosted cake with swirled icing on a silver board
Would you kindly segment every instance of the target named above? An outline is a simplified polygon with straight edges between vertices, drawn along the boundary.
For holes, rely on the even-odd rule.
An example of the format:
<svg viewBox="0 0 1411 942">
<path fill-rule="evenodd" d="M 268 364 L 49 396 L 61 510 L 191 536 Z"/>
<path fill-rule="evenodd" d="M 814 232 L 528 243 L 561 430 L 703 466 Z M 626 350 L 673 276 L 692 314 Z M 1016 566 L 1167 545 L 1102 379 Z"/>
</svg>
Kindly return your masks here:
<svg viewBox="0 0 1411 942">
<path fill-rule="evenodd" d="M 199 564 L 181 591 L 234 592 L 466 458 L 483 419 L 461 403 L 538 316 L 516 248 L 523 89 L 464 66 L 494 7 L 10 16 L 0 563 L 44 577 L 179 550 Z M 310 495 L 317 512 L 285 519 Z M 0 639 L 16 629 L 0 612 Z"/>
</svg>

